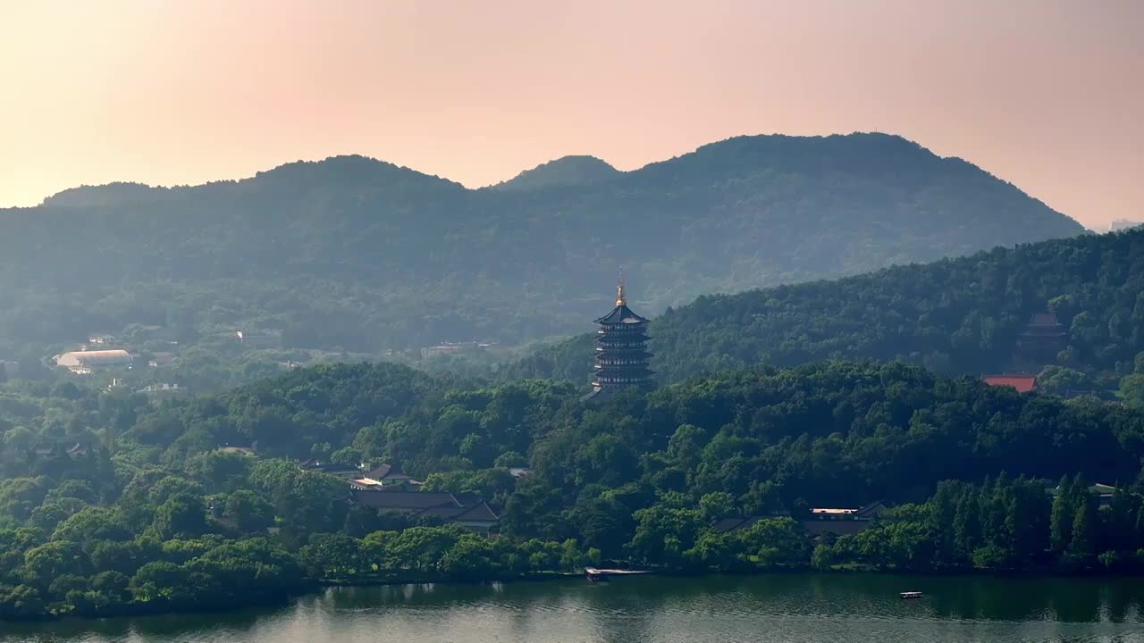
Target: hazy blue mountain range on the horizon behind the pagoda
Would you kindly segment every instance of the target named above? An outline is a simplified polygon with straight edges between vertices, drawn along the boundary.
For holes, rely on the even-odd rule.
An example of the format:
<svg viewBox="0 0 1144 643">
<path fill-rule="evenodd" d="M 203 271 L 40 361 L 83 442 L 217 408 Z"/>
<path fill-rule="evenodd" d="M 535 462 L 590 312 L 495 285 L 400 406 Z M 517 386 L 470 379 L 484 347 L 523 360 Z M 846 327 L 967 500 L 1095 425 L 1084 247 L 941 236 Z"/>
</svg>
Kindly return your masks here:
<svg viewBox="0 0 1144 643">
<path fill-rule="evenodd" d="M 519 343 L 588 327 L 621 265 L 653 315 L 1081 231 L 885 134 L 742 136 L 623 173 L 572 157 L 482 190 L 336 157 L 0 211 L 0 350 L 130 324 L 184 346 L 236 328 L 353 351 Z"/>
</svg>

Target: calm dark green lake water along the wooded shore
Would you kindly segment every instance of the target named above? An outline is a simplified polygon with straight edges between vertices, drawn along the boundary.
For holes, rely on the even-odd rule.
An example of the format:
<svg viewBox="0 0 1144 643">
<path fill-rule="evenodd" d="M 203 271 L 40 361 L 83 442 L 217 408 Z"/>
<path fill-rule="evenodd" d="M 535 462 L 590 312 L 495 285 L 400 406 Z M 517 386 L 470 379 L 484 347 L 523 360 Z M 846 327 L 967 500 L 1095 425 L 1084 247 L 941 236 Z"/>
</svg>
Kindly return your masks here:
<svg viewBox="0 0 1144 643">
<path fill-rule="evenodd" d="M 903 601 L 899 592 L 924 598 Z M 1144 643 L 1144 580 L 638 577 L 333 588 L 279 609 L 0 624 L 37 643 Z"/>
</svg>

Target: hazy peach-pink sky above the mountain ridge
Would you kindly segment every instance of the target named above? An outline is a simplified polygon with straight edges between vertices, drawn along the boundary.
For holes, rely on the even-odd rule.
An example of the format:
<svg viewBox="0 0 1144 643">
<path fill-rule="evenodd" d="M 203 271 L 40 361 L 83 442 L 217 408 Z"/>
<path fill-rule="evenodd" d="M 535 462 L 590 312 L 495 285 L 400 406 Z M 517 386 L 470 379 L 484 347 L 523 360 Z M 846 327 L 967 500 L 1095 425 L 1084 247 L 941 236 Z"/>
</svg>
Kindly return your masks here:
<svg viewBox="0 0 1144 643">
<path fill-rule="evenodd" d="M 362 153 L 470 186 L 901 134 L 1144 220 L 1144 0 L 0 0 L 0 206 Z"/>
</svg>

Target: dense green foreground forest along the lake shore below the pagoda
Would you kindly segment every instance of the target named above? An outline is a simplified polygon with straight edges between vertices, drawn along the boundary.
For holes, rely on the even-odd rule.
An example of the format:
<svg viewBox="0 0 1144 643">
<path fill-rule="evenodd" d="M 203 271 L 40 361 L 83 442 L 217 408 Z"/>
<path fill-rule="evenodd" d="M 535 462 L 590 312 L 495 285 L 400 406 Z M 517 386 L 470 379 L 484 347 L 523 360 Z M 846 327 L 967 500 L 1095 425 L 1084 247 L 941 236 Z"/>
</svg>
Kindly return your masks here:
<svg viewBox="0 0 1144 643">
<path fill-rule="evenodd" d="M 599 407 L 569 383 L 391 364 L 158 406 L 71 382 L 0 394 L 5 618 L 219 609 L 321 581 L 516 578 L 609 559 L 675 572 L 1144 563 L 1144 413 L 901 363 L 725 372 Z M 89 450 L 41 451 L 72 443 Z M 292 460 L 311 457 L 480 494 L 499 535 L 348 502 L 344 482 Z M 531 473 L 510 475 L 519 466 Z M 1086 481 L 1115 485 L 1111 505 Z M 891 508 L 861 533 L 811 539 L 800 522 L 810 507 L 875 500 Z M 733 516 L 762 518 L 714 529 Z"/>
</svg>

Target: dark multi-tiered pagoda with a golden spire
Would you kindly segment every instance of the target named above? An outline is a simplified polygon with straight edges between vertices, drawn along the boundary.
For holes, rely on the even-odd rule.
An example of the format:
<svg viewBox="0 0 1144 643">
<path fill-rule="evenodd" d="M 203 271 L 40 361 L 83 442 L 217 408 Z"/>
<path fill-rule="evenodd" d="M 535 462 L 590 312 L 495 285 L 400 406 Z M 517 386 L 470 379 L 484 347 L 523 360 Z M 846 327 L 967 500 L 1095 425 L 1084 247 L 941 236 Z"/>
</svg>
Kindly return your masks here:
<svg viewBox="0 0 1144 643">
<path fill-rule="evenodd" d="M 596 368 L 588 398 L 602 400 L 625 388 L 646 389 L 652 383 L 648 368 L 648 319 L 628 308 L 623 277 L 615 289 L 615 308 L 596 319 Z"/>
</svg>

